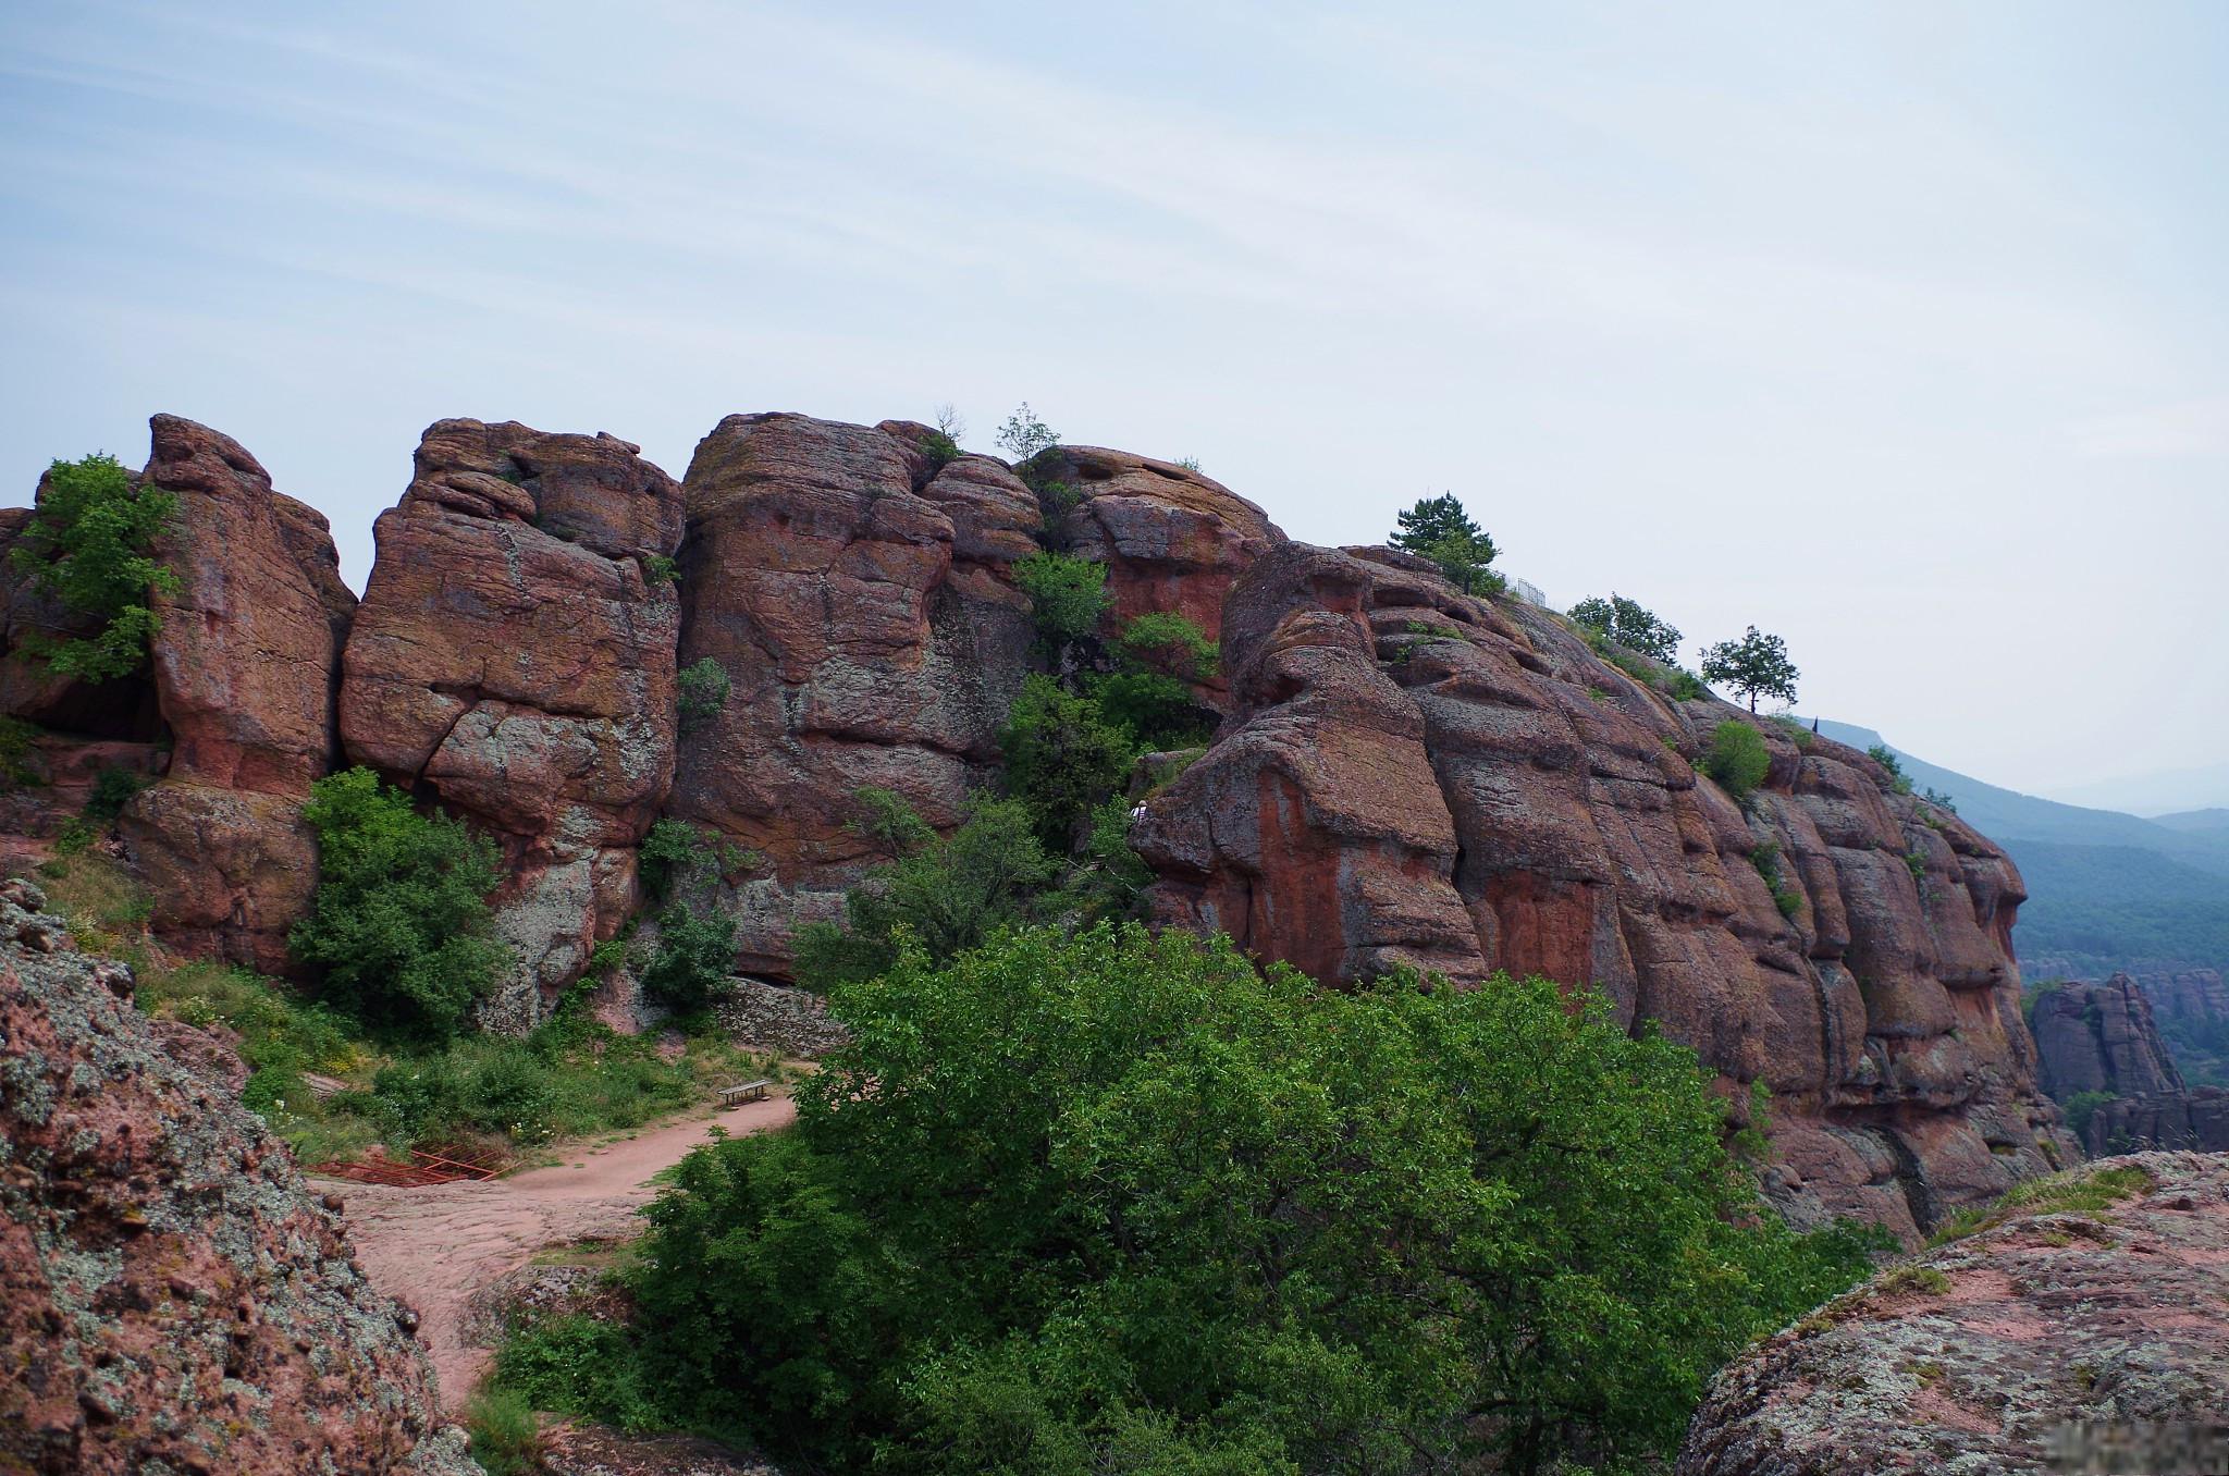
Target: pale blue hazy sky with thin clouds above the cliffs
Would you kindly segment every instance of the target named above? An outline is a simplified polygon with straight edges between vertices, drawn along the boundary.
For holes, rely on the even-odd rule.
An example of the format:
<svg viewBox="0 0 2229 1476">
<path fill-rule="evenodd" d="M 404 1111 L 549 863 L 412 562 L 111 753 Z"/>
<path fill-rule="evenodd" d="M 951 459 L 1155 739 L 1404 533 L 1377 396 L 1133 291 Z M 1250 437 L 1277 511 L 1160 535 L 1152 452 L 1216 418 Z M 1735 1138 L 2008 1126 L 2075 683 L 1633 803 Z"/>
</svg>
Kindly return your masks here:
<svg viewBox="0 0 2229 1476">
<path fill-rule="evenodd" d="M 2229 758 L 2229 4 L 0 9 L 0 479 L 1028 399 L 2031 792 Z"/>
</svg>

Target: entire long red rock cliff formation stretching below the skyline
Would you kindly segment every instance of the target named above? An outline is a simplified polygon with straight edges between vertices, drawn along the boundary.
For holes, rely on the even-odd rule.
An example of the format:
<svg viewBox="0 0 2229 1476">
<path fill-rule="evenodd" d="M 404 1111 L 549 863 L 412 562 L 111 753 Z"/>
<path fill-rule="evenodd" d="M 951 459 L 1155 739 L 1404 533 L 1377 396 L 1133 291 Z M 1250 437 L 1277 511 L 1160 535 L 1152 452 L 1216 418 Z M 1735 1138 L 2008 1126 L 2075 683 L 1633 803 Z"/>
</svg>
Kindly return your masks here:
<svg viewBox="0 0 2229 1476">
<path fill-rule="evenodd" d="M 510 865 L 519 965 L 488 1021 L 526 1028 L 640 907 L 660 816 L 720 843 L 738 968 L 785 979 L 796 928 L 874 861 L 858 787 L 950 827 L 999 780 L 1041 660 L 1012 569 L 1072 551 L 1108 566 L 1103 635 L 1177 611 L 1221 642 L 1221 731 L 1135 836 L 1159 921 L 1326 981 L 1600 983 L 1692 1043 L 1736 1117 L 1768 1088 L 1799 1215 L 1912 1235 L 2073 1150 L 2019 1019 L 2017 872 L 1870 758 L 1761 722 L 1772 767 L 1743 805 L 1696 763 L 1750 718 L 1665 698 L 1545 611 L 1291 544 L 1175 464 L 1059 448 L 1023 479 L 934 453 L 912 421 L 736 415 L 678 484 L 609 435 L 441 421 L 352 609 L 314 513 L 158 417 L 147 475 L 181 493 L 187 580 L 152 676 L 62 691 L 11 647 L 0 691 L 65 729 L 58 769 L 163 771 L 169 742 L 125 838 L 158 932 L 196 952 L 283 963 L 325 767 L 468 816 Z M 11 633 L 56 622 L 0 593 Z"/>
</svg>

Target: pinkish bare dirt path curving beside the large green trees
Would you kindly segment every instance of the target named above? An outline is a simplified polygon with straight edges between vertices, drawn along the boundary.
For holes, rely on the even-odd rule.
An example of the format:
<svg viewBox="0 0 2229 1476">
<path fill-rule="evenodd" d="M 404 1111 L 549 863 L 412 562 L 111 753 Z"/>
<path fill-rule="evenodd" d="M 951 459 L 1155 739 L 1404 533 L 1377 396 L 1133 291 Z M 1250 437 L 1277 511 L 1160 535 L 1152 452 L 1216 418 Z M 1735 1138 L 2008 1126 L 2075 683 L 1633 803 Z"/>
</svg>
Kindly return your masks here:
<svg viewBox="0 0 2229 1476">
<path fill-rule="evenodd" d="M 417 1309 L 441 1400 L 455 1409 L 488 1367 L 488 1351 L 466 1347 L 461 1338 L 473 1293 L 548 1246 L 635 1235 L 642 1229 L 635 1211 L 655 1193 L 651 1175 L 678 1164 L 711 1128 L 742 1137 L 787 1126 L 794 1117 L 789 1099 L 776 1097 L 646 1128 L 586 1153 L 575 1150 L 553 1168 L 490 1184 L 388 1188 L 323 1182 L 319 1188 L 348 1202 L 341 1217 L 372 1284 Z"/>
</svg>

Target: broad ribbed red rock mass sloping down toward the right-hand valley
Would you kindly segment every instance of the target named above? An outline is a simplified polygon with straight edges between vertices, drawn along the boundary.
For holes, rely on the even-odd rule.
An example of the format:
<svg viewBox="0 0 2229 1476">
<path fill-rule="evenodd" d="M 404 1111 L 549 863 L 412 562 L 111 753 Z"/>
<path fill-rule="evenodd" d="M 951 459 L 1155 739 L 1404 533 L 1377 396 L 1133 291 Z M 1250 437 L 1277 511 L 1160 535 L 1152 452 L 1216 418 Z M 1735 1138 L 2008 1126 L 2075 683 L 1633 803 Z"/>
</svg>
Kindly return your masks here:
<svg viewBox="0 0 2229 1476">
<path fill-rule="evenodd" d="M 1743 809 L 1692 767 L 1736 709 L 1384 548 L 1255 560 L 1221 640 L 1230 720 L 1135 834 L 1161 921 L 1322 979 L 1598 983 L 1772 1090 L 1799 1217 L 1912 1235 L 2071 1153 L 2019 1019 L 2019 874 L 1863 754 L 1759 722 Z"/>
</svg>

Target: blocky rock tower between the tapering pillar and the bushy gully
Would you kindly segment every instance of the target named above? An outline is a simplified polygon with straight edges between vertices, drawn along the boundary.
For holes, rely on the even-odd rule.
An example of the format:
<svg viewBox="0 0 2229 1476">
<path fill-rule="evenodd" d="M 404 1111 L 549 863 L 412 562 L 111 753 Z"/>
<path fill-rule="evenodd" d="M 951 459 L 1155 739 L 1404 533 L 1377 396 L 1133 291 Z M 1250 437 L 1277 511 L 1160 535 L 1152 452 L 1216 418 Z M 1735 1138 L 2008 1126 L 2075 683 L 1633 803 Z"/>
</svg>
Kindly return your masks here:
<svg viewBox="0 0 2229 1476">
<path fill-rule="evenodd" d="M 1005 466 L 938 466 L 925 435 L 731 415 L 689 464 L 680 660 L 727 696 L 682 734 L 671 812 L 756 863 L 727 896 L 744 972 L 787 977 L 798 923 L 874 861 L 856 789 L 952 827 L 994 774 L 1030 651 L 1008 569 L 1041 515 Z"/>
</svg>

